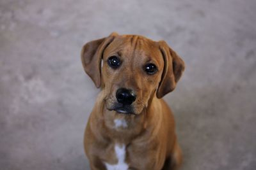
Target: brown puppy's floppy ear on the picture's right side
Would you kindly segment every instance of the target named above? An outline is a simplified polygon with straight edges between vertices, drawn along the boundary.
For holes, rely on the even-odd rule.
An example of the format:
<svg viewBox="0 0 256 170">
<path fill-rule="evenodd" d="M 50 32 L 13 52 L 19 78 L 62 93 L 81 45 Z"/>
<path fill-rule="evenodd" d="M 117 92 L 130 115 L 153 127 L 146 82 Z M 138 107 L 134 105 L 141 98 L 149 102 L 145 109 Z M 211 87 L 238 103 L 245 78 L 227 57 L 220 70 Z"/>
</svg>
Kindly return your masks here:
<svg viewBox="0 0 256 170">
<path fill-rule="evenodd" d="M 184 71 L 185 64 L 165 41 L 159 41 L 159 48 L 164 59 L 162 78 L 157 89 L 157 97 L 161 98 L 175 89 L 176 83 Z"/>
</svg>

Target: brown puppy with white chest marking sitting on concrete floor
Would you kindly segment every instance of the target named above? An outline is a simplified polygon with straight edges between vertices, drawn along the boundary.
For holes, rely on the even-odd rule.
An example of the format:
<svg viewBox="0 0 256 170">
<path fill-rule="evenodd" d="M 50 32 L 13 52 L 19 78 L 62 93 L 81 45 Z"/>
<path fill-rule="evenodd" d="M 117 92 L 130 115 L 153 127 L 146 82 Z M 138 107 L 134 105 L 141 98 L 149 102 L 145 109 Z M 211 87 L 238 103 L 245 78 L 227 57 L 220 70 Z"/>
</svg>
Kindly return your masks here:
<svg viewBox="0 0 256 170">
<path fill-rule="evenodd" d="M 86 43 L 81 60 L 101 89 L 84 134 L 91 169 L 177 169 L 174 119 L 161 99 L 184 71 L 177 53 L 164 41 L 114 32 Z"/>
</svg>

